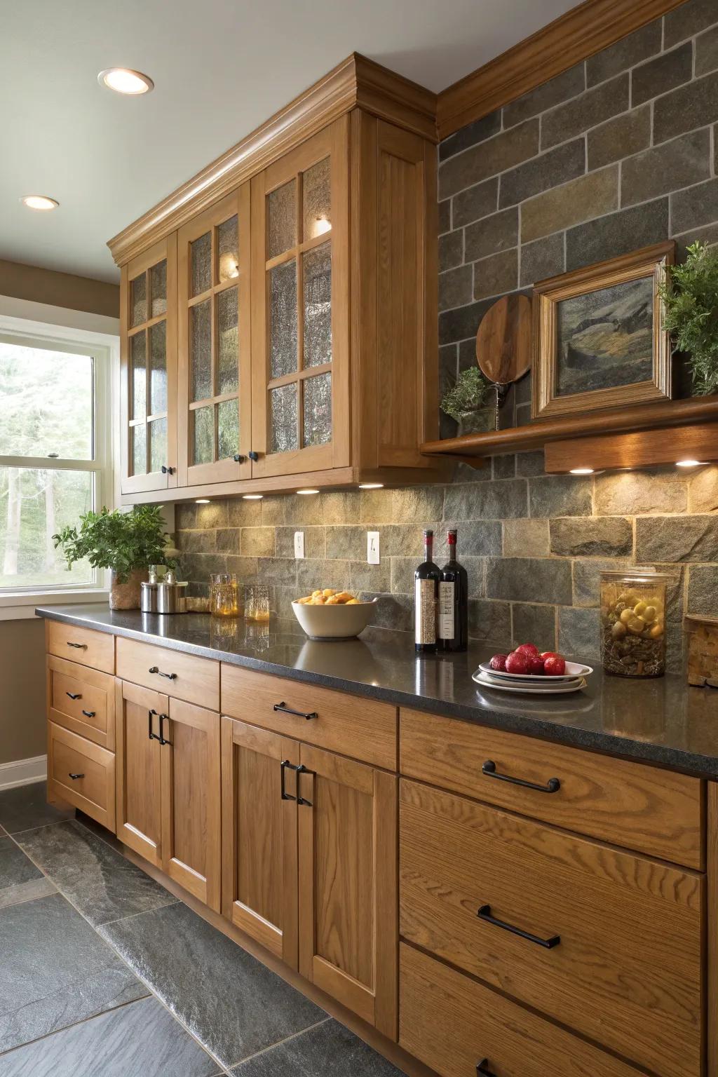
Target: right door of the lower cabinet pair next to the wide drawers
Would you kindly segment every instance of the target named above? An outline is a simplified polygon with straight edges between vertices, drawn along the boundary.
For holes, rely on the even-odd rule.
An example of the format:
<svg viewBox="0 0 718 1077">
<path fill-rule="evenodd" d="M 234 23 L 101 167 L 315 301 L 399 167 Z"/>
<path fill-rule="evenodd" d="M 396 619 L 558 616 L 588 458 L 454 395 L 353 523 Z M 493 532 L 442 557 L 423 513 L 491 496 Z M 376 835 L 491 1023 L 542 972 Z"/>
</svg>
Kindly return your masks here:
<svg viewBox="0 0 718 1077">
<path fill-rule="evenodd" d="M 396 1039 L 396 778 L 305 744 L 300 763 L 299 971 Z"/>
</svg>

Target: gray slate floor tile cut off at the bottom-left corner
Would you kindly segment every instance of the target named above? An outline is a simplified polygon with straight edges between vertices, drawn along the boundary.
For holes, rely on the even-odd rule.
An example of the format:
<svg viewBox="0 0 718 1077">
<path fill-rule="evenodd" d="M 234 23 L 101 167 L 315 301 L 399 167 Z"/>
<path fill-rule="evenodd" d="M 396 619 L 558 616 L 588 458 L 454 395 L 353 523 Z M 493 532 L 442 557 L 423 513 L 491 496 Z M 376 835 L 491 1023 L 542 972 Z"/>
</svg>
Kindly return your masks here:
<svg viewBox="0 0 718 1077">
<path fill-rule="evenodd" d="M 220 1067 L 156 998 L 0 1055 L 0 1077 L 213 1077 Z"/>
</svg>

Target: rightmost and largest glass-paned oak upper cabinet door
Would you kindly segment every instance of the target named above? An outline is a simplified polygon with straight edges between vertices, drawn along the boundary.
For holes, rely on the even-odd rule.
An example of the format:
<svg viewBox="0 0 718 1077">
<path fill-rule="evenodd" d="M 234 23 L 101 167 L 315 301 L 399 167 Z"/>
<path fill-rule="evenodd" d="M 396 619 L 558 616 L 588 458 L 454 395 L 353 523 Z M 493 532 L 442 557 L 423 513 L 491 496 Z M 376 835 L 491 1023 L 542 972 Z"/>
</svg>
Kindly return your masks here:
<svg viewBox="0 0 718 1077">
<path fill-rule="evenodd" d="M 253 477 L 349 463 L 348 117 L 252 180 Z"/>
</svg>

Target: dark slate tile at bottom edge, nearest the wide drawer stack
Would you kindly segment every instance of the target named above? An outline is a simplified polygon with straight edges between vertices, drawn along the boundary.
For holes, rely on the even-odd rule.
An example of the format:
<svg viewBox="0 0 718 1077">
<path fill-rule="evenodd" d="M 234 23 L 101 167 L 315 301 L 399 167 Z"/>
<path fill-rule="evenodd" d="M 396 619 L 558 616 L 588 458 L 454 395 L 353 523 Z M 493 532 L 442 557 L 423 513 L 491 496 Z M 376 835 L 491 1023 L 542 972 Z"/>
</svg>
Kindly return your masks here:
<svg viewBox="0 0 718 1077">
<path fill-rule="evenodd" d="M 237 1077 L 400 1077 L 403 1071 L 338 1021 L 329 1020 L 248 1059 L 231 1072 Z"/>
</svg>

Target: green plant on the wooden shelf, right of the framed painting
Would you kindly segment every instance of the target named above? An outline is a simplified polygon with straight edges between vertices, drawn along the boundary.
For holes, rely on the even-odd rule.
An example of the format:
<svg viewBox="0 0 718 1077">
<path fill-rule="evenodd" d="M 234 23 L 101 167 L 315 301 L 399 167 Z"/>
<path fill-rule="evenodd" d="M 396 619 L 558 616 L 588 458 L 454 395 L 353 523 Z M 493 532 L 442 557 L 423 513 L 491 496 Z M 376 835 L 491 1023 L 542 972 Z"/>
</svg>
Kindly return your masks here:
<svg viewBox="0 0 718 1077">
<path fill-rule="evenodd" d="M 718 392 L 718 248 L 700 240 L 661 286 L 663 327 L 675 351 L 688 355 L 693 393 Z"/>
</svg>

